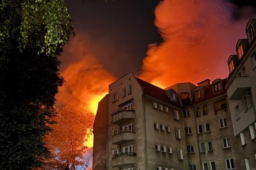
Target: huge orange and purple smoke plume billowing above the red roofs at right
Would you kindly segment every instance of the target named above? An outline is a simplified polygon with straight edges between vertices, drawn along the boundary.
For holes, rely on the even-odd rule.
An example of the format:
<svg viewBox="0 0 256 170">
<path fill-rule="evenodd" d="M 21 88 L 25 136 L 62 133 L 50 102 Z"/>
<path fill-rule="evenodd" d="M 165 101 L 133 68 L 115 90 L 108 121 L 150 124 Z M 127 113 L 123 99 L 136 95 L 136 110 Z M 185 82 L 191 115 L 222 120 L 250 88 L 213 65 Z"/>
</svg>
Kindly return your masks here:
<svg viewBox="0 0 256 170">
<path fill-rule="evenodd" d="M 245 38 L 249 21 L 235 22 L 235 8 L 220 0 L 161 1 L 155 25 L 164 41 L 149 46 L 140 77 L 162 88 L 227 77 L 227 58 Z"/>
</svg>

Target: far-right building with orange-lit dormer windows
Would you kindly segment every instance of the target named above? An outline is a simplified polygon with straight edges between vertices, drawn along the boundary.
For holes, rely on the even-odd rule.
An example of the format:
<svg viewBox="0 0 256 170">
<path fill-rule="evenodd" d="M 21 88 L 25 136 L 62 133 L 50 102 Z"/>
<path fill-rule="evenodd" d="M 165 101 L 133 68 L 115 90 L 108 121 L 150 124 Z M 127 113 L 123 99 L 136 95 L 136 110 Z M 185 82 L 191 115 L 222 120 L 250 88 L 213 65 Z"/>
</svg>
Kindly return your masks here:
<svg viewBox="0 0 256 170">
<path fill-rule="evenodd" d="M 256 20 L 246 25 L 247 39 L 236 44 L 236 55 L 228 59 L 227 96 L 237 138 L 241 164 L 256 169 Z"/>
</svg>

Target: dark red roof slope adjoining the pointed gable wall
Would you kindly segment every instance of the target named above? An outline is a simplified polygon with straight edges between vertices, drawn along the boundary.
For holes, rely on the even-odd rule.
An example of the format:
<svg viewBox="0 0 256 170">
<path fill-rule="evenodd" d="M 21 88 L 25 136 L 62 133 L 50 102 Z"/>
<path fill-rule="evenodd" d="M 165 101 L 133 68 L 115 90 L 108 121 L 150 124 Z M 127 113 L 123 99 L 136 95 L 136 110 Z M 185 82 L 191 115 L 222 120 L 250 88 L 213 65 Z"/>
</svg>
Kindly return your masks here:
<svg viewBox="0 0 256 170">
<path fill-rule="evenodd" d="M 150 84 L 142 79 L 139 79 L 139 78 L 136 78 L 136 79 L 140 83 L 140 86 L 143 88 L 144 94 L 150 95 L 154 98 L 157 98 L 164 102 L 180 107 L 180 103 L 170 100 L 170 98 L 165 94 L 166 90 L 160 87 L 154 86 L 153 84 Z"/>
</svg>

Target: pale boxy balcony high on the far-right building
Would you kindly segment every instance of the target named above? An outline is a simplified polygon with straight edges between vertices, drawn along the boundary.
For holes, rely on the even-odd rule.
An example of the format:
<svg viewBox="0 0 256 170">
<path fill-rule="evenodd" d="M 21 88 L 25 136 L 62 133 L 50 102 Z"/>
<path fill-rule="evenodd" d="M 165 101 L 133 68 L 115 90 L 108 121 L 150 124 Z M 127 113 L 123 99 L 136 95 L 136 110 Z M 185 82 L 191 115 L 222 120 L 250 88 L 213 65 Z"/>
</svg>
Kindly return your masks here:
<svg viewBox="0 0 256 170">
<path fill-rule="evenodd" d="M 227 88 L 229 100 L 240 100 L 251 88 L 251 81 L 248 74 L 236 75 L 233 82 Z"/>
</svg>

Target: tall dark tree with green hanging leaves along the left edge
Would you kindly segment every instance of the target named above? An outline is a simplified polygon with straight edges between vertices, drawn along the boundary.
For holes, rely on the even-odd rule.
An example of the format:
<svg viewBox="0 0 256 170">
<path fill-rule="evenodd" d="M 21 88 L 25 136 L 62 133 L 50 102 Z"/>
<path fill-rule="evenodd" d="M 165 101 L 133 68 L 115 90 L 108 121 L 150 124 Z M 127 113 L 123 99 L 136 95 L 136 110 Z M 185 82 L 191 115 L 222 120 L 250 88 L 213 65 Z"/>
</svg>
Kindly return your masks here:
<svg viewBox="0 0 256 170">
<path fill-rule="evenodd" d="M 64 0 L 0 0 L 0 169 L 42 166 L 64 82 L 57 56 L 74 35 Z"/>
</svg>

